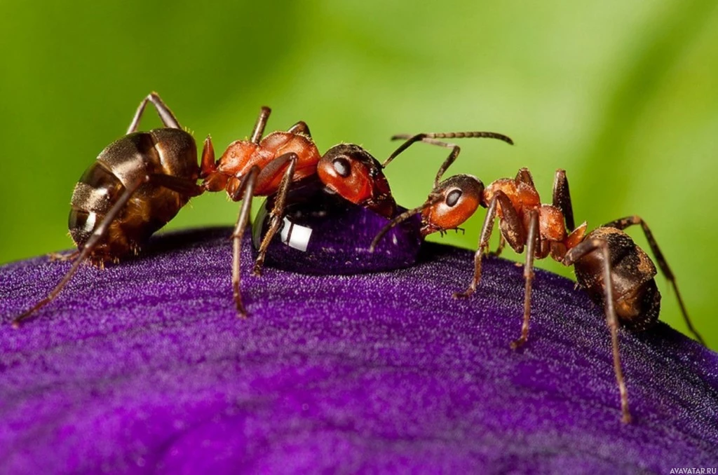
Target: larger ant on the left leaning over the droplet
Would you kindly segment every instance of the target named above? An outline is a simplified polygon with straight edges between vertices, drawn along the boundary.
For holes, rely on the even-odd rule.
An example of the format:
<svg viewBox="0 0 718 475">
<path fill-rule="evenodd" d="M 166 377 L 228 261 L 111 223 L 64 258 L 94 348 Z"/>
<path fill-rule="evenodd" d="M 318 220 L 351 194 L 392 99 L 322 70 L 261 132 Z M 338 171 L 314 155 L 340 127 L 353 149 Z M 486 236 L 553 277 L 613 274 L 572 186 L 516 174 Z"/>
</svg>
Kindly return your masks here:
<svg viewBox="0 0 718 475">
<path fill-rule="evenodd" d="M 147 103 L 154 105 L 164 128 L 138 132 Z M 234 141 L 217 161 L 211 138 L 205 138 L 197 164 L 192 135 L 180 127 L 157 93 L 147 95 L 126 135 L 101 151 L 75 186 L 68 226 L 77 250 L 62 256 L 62 260 L 74 260 L 73 265 L 45 298 L 12 321 L 13 326 L 55 299 L 85 260 L 103 268 L 107 262 L 138 253 L 190 198 L 204 192 L 225 190 L 233 201 L 243 200 L 232 234 L 232 288 L 239 316 L 247 314 L 240 292 L 240 250 L 252 197 L 276 197 L 271 225 L 253 266 L 255 275 L 261 273 L 266 249 L 281 226 L 292 183 L 320 179 L 324 187 L 349 202 L 387 219 L 396 215 L 382 166 L 367 151 L 339 144 L 322 156 L 303 121 L 263 138 L 270 113 L 270 108 L 261 108 L 251 138 Z"/>
</svg>

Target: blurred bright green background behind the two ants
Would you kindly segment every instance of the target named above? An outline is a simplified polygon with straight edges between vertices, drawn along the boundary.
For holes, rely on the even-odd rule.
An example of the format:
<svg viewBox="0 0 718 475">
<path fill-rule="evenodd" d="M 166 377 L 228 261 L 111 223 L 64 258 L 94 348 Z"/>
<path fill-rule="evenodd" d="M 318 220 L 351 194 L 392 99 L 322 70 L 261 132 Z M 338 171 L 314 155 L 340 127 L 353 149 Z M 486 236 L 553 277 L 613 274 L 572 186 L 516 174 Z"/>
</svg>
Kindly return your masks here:
<svg viewBox="0 0 718 475">
<path fill-rule="evenodd" d="M 351 141 L 379 159 L 393 133 L 507 133 L 516 146 L 463 141 L 452 171 L 488 183 L 527 166 L 549 202 L 561 167 L 577 222 L 643 216 L 718 347 L 715 1 L 4 1 L 1 11 L 0 263 L 71 246 L 75 182 L 157 90 L 218 152 L 250 133 L 264 104 L 268 130 L 302 119 L 320 150 Z M 159 125 L 148 118 L 143 128 Z M 398 202 L 423 201 L 444 155 L 416 147 L 391 165 Z M 168 228 L 229 225 L 237 210 L 205 195 Z M 483 215 L 444 241 L 475 247 Z M 663 320 L 684 329 L 658 285 Z"/>
</svg>

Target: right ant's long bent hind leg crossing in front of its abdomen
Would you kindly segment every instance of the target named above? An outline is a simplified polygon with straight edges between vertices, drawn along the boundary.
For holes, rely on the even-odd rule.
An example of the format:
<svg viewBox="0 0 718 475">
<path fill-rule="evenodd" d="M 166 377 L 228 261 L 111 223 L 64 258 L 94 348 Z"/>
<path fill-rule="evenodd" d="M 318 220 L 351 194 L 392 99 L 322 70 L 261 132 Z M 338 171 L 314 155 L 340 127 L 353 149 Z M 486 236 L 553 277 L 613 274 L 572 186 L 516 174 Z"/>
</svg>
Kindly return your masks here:
<svg viewBox="0 0 718 475">
<path fill-rule="evenodd" d="M 606 324 L 611 331 L 611 344 L 613 349 L 613 370 L 616 374 L 616 382 L 618 383 L 618 392 L 621 398 L 621 413 L 623 423 L 630 423 L 630 411 L 628 410 L 628 390 L 626 389 L 625 380 L 623 379 L 623 367 L 621 366 L 621 358 L 618 352 L 618 317 L 613 308 L 613 282 L 611 279 L 611 258 L 608 250 L 608 244 L 602 239 L 584 240 L 575 248 L 569 250 L 564 256 L 562 263 L 564 265 L 574 265 L 574 263 L 584 255 L 600 250 L 603 259 L 603 281 L 605 282 L 605 312 Z"/>
</svg>

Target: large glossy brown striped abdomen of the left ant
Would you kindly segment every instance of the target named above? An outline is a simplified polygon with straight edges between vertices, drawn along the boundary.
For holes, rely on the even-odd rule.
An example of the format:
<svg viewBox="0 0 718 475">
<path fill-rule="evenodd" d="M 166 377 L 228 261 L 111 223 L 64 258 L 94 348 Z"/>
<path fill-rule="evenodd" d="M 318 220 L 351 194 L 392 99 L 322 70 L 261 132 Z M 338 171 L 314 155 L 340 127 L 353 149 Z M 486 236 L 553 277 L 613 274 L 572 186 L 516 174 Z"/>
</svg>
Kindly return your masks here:
<svg viewBox="0 0 718 475">
<path fill-rule="evenodd" d="M 192 136 L 180 128 L 130 133 L 98 155 L 75 185 L 68 219 L 70 235 L 79 249 L 127 187 L 148 176 L 197 181 L 197 149 Z M 109 223 L 106 237 L 93 249 L 94 265 L 134 253 L 154 232 L 167 224 L 190 196 L 160 182 L 141 185 Z"/>
</svg>

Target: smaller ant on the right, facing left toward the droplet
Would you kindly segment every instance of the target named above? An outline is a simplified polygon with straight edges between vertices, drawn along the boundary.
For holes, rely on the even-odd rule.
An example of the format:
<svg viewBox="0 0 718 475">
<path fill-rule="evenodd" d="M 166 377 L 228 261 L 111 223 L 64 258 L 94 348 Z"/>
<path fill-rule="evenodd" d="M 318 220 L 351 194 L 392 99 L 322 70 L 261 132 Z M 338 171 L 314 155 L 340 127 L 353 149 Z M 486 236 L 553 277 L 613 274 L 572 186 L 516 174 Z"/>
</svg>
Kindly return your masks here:
<svg viewBox="0 0 718 475">
<path fill-rule="evenodd" d="M 398 135 L 393 139 L 408 139 L 404 148 L 416 141 L 454 147 L 437 141 L 437 138 L 457 137 L 452 133 L 422 133 L 416 136 Z M 643 331 L 658 321 L 661 309 L 661 293 L 656 286 L 656 266 L 651 258 L 624 232 L 632 225 L 640 225 L 648 245 L 658 261 L 663 275 L 673 286 L 681 313 L 696 339 L 704 340 L 694 329 L 676 285 L 676 278 L 668 267 L 653 233 L 639 216 L 623 217 L 608 222 L 592 232 L 586 233 L 583 222 L 574 227 L 574 215 L 569 182 L 564 170 L 557 170 L 554 178 L 553 201 L 541 204 L 533 178 L 528 169 L 520 169 L 516 178 L 495 180 L 484 187 L 482 182 L 471 175 L 456 175 L 439 182 L 444 171 L 453 163 L 455 156 L 449 155 L 439 168 L 434 188 L 426 202 L 420 207 L 397 216 L 375 237 L 373 245 L 391 227 L 407 217 L 421 213 L 421 232 L 445 232 L 454 229 L 467 220 L 477 207 L 488 208 L 483 222 L 478 248 L 474 258 L 474 276 L 465 291 L 454 293 L 454 298 L 471 296 L 481 279 L 481 263 L 488 250 L 489 239 L 496 215 L 499 217 L 501 242 L 498 255 L 505 243 L 516 253 L 522 253 L 526 246 L 526 263 L 523 276 L 526 281 L 523 304 L 521 336 L 511 342 L 517 349 L 528 340 L 528 323 L 531 316 L 531 285 L 533 282 L 533 260 L 546 258 L 567 266 L 574 266 L 578 286 L 586 289 L 590 298 L 605 310 L 607 326 L 612 341 L 613 367 L 620 392 L 623 423 L 630 423 L 628 390 L 626 390 L 623 369 L 618 351 L 618 326 L 630 331 Z M 609 283 L 606 285 L 606 283 Z"/>
</svg>

